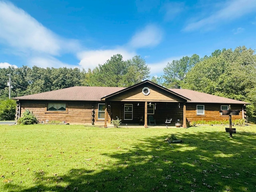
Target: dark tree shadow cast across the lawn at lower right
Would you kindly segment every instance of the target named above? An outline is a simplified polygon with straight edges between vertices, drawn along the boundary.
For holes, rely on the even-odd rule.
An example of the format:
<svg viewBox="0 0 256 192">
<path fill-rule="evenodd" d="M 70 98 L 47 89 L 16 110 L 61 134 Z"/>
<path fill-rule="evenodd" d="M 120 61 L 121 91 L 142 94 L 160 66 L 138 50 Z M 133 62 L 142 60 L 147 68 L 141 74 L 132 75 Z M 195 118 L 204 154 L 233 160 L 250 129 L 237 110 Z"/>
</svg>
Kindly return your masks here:
<svg viewBox="0 0 256 192">
<path fill-rule="evenodd" d="M 166 136 L 167 137 L 167 136 Z M 64 175 L 36 172 L 36 187 L 12 183 L 12 192 L 40 191 L 256 191 L 256 136 L 243 132 L 229 138 L 224 132 L 180 133 L 184 142 L 165 137 L 138 141 L 130 150 L 103 154 L 117 160 L 102 170 L 72 169 Z"/>
</svg>

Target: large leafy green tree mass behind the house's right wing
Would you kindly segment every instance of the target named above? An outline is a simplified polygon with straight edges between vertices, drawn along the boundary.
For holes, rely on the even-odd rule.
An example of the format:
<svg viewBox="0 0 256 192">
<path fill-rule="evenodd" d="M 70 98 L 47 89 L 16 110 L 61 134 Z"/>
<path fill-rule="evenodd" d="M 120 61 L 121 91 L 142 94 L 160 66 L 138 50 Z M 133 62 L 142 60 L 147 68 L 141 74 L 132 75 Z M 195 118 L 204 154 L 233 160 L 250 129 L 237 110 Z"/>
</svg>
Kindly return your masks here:
<svg viewBox="0 0 256 192">
<path fill-rule="evenodd" d="M 256 55 L 245 46 L 234 51 L 215 51 L 188 72 L 182 88 L 252 103 L 250 117 L 256 117 Z"/>
</svg>

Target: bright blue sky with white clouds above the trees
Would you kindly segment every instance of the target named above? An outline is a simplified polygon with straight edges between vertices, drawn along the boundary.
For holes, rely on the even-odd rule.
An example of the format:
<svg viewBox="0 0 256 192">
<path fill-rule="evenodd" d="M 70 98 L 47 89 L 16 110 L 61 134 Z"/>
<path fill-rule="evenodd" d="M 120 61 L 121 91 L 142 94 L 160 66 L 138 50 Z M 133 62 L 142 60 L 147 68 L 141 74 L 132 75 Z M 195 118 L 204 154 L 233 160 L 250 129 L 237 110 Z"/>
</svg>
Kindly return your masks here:
<svg viewBox="0 0 256 192">
<path fill-rule="evenodd" d="M 256 0 L 0 0 L 0 68 L 95 68 L 139 55 L 151 76 L 182 56 L 256 49 Z"/>
</svg>

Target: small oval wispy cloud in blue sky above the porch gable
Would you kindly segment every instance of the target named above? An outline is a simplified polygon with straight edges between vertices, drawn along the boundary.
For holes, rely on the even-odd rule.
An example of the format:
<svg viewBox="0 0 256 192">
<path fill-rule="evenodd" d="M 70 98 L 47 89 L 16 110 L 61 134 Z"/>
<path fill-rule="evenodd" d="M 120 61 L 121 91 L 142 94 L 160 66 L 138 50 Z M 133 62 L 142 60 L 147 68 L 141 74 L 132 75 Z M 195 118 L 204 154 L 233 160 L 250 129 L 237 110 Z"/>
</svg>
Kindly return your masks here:
<svg viewBox="0 0 256 192">
<path fill-rule="evenodd" d="M 147 25 L 144 29 L 138 31 L 128 43 L 132 48 L 153 47 L 162 40 L 163 32 L 155 25 Z"/>
</svg>

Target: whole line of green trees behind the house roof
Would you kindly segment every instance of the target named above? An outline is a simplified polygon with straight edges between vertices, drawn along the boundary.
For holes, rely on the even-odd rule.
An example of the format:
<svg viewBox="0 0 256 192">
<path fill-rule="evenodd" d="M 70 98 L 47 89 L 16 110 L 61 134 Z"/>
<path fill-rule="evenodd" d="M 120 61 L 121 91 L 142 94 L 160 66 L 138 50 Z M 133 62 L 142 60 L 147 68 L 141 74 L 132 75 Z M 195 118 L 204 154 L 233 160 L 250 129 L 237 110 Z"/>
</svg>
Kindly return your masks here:
<svg viewBox="0 0 256 192">
<path fill-rule="evenodd" d="M 184 56 L 167 63 L 160 77 L 150 77 L 150 68 L 140 56 L 123 60 L 116 54 L 88 71 L 79 68 L 0 68 L 0 99 L 35 94 L 72 86 L 128 87 L 149 79 L 166 88 L 187 88 L 250 102 L 248 116 L 256 118 L 256 54 L 252 49 L 215 50 L 210 56 Z"/>
</svg>

